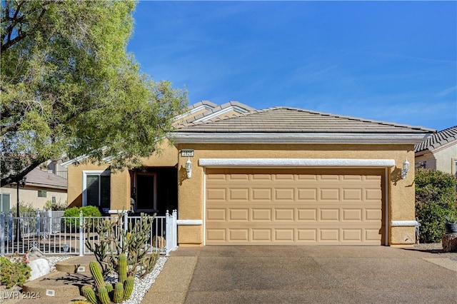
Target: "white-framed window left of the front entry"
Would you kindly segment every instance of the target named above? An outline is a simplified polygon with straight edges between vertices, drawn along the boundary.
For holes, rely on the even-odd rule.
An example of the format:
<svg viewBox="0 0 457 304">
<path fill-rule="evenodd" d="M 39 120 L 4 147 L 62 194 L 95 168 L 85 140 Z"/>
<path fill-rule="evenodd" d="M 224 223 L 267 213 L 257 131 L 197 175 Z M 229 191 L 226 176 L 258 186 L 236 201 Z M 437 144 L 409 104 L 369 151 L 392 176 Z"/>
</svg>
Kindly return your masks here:
<svg viewBox="0 0 457 304">
<path fill-rule="evenodd" d="M 110 171 L 83 171 L 83 206 L 109 208 Z"/>
</svg>

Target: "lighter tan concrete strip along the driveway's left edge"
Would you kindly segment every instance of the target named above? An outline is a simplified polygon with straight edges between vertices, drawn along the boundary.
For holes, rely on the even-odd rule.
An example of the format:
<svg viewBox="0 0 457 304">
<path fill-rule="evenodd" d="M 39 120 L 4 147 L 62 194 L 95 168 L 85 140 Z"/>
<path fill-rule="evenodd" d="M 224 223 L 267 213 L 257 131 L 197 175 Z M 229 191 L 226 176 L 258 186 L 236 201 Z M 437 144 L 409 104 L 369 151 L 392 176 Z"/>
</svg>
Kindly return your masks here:
<svg viewBox="0 0 457 304">
<path fill-rule="evenodd" d="M 197 263 L 196 256 L 171 256 L 141 303 L 184 303 Z"/>
</svg>

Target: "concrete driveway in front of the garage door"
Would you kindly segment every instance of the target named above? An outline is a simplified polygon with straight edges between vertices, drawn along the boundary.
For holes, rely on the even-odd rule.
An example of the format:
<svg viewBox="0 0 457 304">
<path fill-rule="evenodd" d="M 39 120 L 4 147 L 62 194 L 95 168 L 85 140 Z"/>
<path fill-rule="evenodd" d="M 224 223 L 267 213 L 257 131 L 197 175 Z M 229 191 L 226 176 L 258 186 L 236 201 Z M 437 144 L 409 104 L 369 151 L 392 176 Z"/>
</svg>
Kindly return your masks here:
<svg viewBox="0 0 457 304">
<path fill-rule="evenodd" d="M 179 248 L 143 303 L 457 303 L 451 258 L 383 246 Z"/>
</svg>

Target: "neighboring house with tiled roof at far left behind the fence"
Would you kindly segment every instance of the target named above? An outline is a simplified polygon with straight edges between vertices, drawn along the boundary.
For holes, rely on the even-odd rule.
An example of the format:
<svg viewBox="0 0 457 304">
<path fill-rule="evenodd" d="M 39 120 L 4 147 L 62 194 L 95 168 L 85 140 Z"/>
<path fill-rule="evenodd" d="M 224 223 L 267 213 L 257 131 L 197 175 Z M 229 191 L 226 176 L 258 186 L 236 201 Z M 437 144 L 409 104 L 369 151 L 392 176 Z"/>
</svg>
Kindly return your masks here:
<svg viewBox="0 0 457 304">
<path fill-rule="evenodd" d="M 0 193 L 0 212 L 8 213 L 17 205 L 16 183 L 0 188 Z M 19 187 L 19 202 L 31 204 L 33 208 L 43 210 L 46 201 L 65 203 L 66 200 L 66 179 L 53 173 L 41 171 L 39 168 L 34 168 L 29 172 L 26 175 L 25 186 Z"/>
</svg>

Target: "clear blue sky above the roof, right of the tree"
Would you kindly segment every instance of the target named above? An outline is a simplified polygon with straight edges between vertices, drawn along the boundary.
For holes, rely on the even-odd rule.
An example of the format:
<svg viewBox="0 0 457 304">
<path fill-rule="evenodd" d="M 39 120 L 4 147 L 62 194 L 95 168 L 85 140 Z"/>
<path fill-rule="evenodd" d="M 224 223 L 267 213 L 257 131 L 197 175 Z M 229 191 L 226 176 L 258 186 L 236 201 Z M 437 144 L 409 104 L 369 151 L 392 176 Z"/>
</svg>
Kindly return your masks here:
<svg viewBox="0 0 457 304">
<path fill-rule="evenodd" d="M 139 1 L 128 50 L 189 103 L 457 125 L 456 1 Z"/>
</svg>

